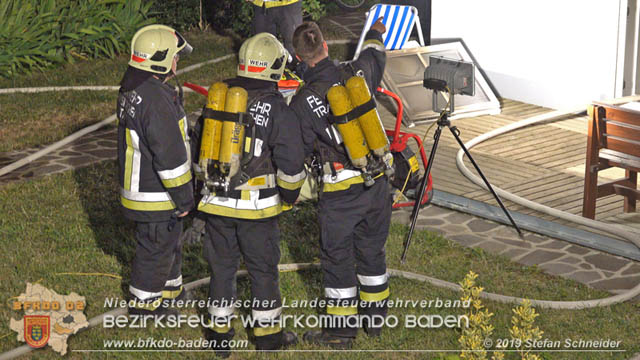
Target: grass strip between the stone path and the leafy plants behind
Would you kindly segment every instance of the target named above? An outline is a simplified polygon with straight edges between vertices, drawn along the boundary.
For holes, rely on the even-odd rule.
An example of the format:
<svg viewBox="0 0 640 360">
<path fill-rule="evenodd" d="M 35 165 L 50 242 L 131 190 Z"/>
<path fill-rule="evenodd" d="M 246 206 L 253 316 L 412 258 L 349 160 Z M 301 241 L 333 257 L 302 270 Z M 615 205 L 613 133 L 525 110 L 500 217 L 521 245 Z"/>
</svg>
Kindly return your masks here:
<svg viewBox="0 0 640 360">
<path fill-rule="evenodd" d="M 180 61 L 179 68 L 232 52 L 228 38 L 212 32 L 194 31 L 187 35 L 193 53 Z M 30 76 L 0 79 L 0 88 L 41 86 L 118 85 L 127 68 L 128 56 L 66 64 Z M 204 66 L 180 76 L 208 86 L 229 77 L 235 60 Z M 80 128 L 101 121 L 115 111 L 116 91 L 61 91 L 39 94 L 0 95 L 0 153 L 53 143 Z M 188 94 L 187 110 L 201 108 L 203 98 Z"/>
</svg>

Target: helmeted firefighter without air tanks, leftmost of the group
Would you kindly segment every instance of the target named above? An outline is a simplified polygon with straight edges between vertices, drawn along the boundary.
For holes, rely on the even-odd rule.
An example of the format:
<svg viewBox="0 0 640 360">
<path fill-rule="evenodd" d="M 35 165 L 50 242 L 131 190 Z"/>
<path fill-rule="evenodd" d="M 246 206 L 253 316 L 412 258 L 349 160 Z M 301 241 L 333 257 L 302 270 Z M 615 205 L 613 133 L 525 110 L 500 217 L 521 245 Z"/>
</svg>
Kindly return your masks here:
<svg viewBox="0 0 640 360">
<path fill-rule="evenodd" d="M 167 81 L 192 51 L 174 29 L 149 25 L 131 41 L 118 94 L 118 164 L 124 216 L 136 223 L 131 314 L 167 313 L 184 296 L 182 217 L 195 207 L 182 94 Z"/>
</svg>

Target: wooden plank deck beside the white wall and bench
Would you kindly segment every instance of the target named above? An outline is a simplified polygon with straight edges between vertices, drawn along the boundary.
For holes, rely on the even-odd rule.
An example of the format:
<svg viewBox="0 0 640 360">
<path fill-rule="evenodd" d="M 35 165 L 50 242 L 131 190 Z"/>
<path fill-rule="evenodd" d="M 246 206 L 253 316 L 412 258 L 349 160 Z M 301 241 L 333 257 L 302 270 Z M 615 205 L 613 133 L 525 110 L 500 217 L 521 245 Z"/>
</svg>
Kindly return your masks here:
<svg viewBox="0 0 640 360">
<path fill-rule="evenodd" d="M 384 102 L 383 102 L 384 103 Z M 381 116 L 385 128 L 395 124 L 395 111 L 381 106 Z M 543 114 L 551 110 L 518 101 L 502 99 L 501 114 L 486 115 L 454 120 L 453 125 L 461 131 L 463 141 L 498 127 Z M 528 200 L 572 214 L 582 213 L 582 192 L 584 164 L 587 143 L 587 116 L 570 116 L 566 119 L 544 125 L 530 126 L 488 140 L 471 149 L 471 154 L 492 185 L 500 187 Z M 429 124 L 423 124 L 402 131 L 423 136 Z M 425 150 L 427 156 L 433 144 L 431 129 Z M 410 141 L 417 152 L 414 141 Z M 453 135 L 444 129 L 432 168 L 434 187 L 456 195 L 497 205 L 492 195 L 467 180 L 456 168 L 455 156 L 459 146 Z M 466 159 L 466 158 L 465 158 Z M 467 167 L 473 165 L 465 160 Z M 618 169 L 610 169 L 600 177 L 607 181 L 624 175 Z M 612 195 L 598 199 L 596 219 L 619 223 L 638 229 L 640 236 L 640 212 L 623 213 L 621 196 Z M 568 226 L 576 226 L 564 220 L 535 212 L 520 205 L 504 201 L 508 209 L 552 220 Z M 591 231 L 591 230 L 590 230 Z"/>
</svg>

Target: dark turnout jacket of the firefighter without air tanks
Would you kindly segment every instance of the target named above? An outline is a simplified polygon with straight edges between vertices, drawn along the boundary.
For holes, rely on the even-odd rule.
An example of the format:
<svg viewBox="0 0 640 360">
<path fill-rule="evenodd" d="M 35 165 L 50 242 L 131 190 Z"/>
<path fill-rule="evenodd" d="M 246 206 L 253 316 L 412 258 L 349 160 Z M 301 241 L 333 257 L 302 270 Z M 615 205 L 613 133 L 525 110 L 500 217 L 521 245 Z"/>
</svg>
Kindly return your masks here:
<svg viewBox="0 0 640 360">
<path fill-rule="evenodd" d="M 171 86 L 150 76 L 118 95 L 120 202 L 125 217 L 166 221 L 194 204 L 187 119 Z"/>
</svg>

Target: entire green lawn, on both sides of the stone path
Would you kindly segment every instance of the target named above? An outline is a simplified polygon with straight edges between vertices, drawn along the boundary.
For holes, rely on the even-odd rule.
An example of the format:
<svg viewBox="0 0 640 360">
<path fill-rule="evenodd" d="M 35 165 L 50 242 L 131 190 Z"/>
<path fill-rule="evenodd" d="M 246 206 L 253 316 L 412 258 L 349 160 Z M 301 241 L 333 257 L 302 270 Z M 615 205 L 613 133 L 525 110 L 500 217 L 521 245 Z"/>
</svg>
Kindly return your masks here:
<svg viewBox="0 0 640 360">
<path fill-rule="evenodd" d="M 328 39 L 336 32 L 331 24 L 320 22 Z M 194 45 L 192 56 L 182 59 L 180 67 L 229 54 L 238 44 L 229 38 L 209 32 L 187 34 Z M 349 47 L 332 46 L 331 56 L 349 57 Z M 34 73 L 31 76 L 7 80 L 0 79 L 0 88 L 65 86 L 65 85 L 117 85 L 126 68 L 127 56 L 117 59 L 78 62 L 62 68 Z M 180 76 L 209 86 L 213 81 L 234 75 L 235 59 L 215 65 L 207 65 Z M 53 143 L 74 131 L 111 115 L 115 108 L 115 92 L 59 92 L 42 94 L 0 95 L 0 153 Z M 187 94 L 187 111 L 199 109 L 204 98 Z M 120 214 L 115 162 L 105 162 L 87 168 L 42 179 L 0 186 L 0 303 L 25 291 L 26 282 L 39 282 L 59 294 L 77 292 L 86 297 L 87 316 L 105 312 L 103 303 L 107 297 L 123 297 L 127 294 L 129 264 L 133 257 L 135 240 L 133 225 Z M 318 228 L 314 204 L 307 203 L 281 217 L 282 263 L 309 262 L 318 256 Z M 576 282 L 546 275 L 535 267 L 523 267 L 505 258 L 492 256 L 481 249 L 463 248 L 441 236 L 418 231 L 414 235 L 412 252 L 406 265 L 398 261 L 407 229 L 393 225 L 387 244 L 389 267 L 413 271 L 443 280 L 458 282 L 473 270 L 480 274 L 478 283 L 487 291 L 507 295 L 549 300 L 595 299 L 607 293 L 589 289 Z M 185 281 L 208 276 L 207 265 L 201 255 L 201 246 L 185 249 Z M 60 275 L 59 273 L 105 273 L 122 277 Z M 248 282 L 241 279 L 239 294 L 248 298 Z M 322 296 L 321 276 L 318 270 L 289 272 L 281 275 L 284 297 L 313 299 Z M 459 294 L 424 283 L 392 278 L 392 299 L 457 299 Z M 198 298 L 206 297 L 206 290 L 196 292 Z M 487 303 L 495 313 L 494 339 L 507 338 L 512 306 Z M 640 307 L 638 304 L 580 310 L 539 310 L 537 325 L 551 340 L 597 340 L 610 338 L 622 341 L 627 353 L 542 354 L 545 359 L 626 359 L 640 351 Z M 245 310 L 246 311 L 246 310 Z M 316 309 L 288 309 L 288 314 L 315 314 Z M 202 313 L 189 310 L 187 313 Z M 461 310 L 393 308 L 391 315 L 460 315 Z M 7 306 L 0 307 L 0 353 L 20 346 L 16 335 L 9 330 L 9 319 L 20 319 L 22 313 Z M 246 339 L 246 331 L 236 326 L 237 338 Z M 298 329 L 301 330 L 301 329 Z M 303 330 L 303 329 L 302 329 Z M 298 331 L 302 333 L 302 331 Z M 383 333 L 380 339 L 358 338 L 356 350 L 420 350 L 457 349 L 459 330 L 456 329 L 405 329 L 401 326 Z M 100 327 L 73 336 L 70 350 L 103 349 L 105 340 L 137 340 L 138 338 L 167 337 L 177 340 L 197 339 L 200 329 L 180 330 L 142 329 L 113 330 Z M 253 349 L 250 345 L 249 349 Z M 294 350 L 313 350 L 300 344 Z M 58 358 L 50 349 L 32 354 Z M 184 355 L 184 356 L 182 356 Z M 187 353 L 185 358 L 209 358 L 211 354 Z M 404 352 L 329 352 L 280 353 L 269 356 L 277 359 L 423 359 L 438 357 L 437 353 Z M 74 353 L 70 358 L 166 358 L 166 353 Z M 237 353 L 232 358 L 263 358 L 255 353 Z M 508 359 L 515 359 L 513 354 Z"/>
</svg>

